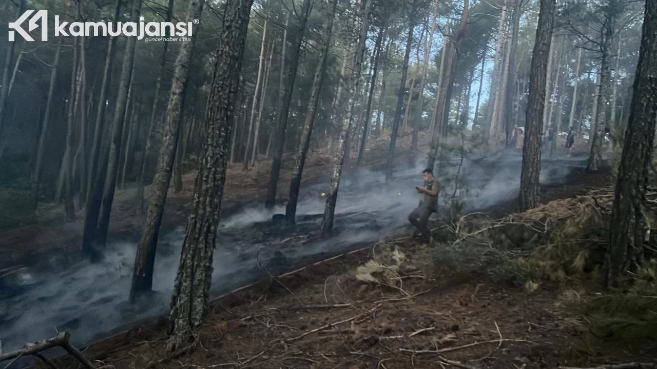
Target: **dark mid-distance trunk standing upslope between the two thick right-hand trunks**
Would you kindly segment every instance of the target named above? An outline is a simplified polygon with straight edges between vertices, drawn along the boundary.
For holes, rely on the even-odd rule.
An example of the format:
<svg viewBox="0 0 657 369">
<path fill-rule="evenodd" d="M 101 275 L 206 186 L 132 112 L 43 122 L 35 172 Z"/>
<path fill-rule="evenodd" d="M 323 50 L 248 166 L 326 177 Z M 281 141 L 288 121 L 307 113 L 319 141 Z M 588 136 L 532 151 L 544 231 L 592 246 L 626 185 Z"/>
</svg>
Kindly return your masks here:
<svg viewBox="0 0 657 369">
<path fill-rule="evenodd" d="M 600 58 L 600 85 L 597 100 L 597 118 L 595 119 L 595 127 L 593 128 L 593 140 L 591 142 L 591 155 L 589 156 L 589 163 L 586 167 L 587 171 L 598 171 L 602 164 L 602 143 L 604 142 L 605 128 L 606 128 L 606 114 L 607 114 L 607 101 L 608 89 L 610 83 L 609 77 L 609 47 L 612 41 L 613 27 L 614 27 L 614 14 L 608 10 L 606 14 L 606 22 L 604 22 L 602 41 L 600 42 L 600 51 L 602 56 Z"/>
</svg>

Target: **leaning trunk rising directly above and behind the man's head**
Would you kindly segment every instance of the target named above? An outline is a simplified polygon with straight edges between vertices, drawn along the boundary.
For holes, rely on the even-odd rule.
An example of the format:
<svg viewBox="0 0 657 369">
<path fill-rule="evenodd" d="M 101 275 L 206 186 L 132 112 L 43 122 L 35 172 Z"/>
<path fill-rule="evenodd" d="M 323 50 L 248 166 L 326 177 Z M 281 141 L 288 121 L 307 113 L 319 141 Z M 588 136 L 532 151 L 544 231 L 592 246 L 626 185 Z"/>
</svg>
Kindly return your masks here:
<svg viewBox="0 0 657 369">
<path fill-rule="evenodd" d="M 426 160 L 426 167 L 433 169 L 436 165 L 436 156 L 438 155 L 438 146 L 440 146 L 440 139 L 447 133 L 447 116 L 449 115 L 449 101 L 451 100 L 451 90 L 454 85 L 454 72 L 459 57 L 459 47 L 461 46 L 461 39 L 463 39 L 467 26 L 468 14 L 470 10 L 470 1 L 463 1 L 463 13 L 461 13 L 461 23 L 449 37 L 449 41 L 445 42 L 443 47 L 443 63 L 441 65 L 442 71 L 439 77 L 440 85 L 436 91 L 436 107 L 434 109 L 434 129 L 432 130 L 431 145 Z"/>
</svg>

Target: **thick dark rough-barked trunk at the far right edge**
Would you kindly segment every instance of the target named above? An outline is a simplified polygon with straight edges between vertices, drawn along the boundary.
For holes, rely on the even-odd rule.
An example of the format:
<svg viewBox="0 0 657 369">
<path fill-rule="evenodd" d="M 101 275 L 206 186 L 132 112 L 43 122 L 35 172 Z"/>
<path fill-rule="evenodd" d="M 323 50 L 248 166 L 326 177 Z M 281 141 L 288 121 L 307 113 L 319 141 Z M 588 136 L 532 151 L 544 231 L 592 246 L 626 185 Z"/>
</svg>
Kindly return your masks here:
<svg viewBox="0 0 657 369">
<path fill-rule="evenodd" d="M 645 7 L 639 65 L 634 78 L 629 121 L 606 253 L 607 285 L 614 287 L 632 263 L 643 261 L 643 244 L 650 235 L 646 192 L 657 121 L 657 2 Z"/>
</svg>

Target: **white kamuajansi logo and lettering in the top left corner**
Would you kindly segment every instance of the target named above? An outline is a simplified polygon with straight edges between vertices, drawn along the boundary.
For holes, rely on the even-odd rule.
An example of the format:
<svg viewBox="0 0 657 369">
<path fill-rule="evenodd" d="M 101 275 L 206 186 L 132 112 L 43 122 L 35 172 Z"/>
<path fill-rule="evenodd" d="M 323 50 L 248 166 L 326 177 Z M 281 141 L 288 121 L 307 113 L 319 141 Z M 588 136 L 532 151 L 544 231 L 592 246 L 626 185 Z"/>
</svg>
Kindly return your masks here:
<svg viewBox="0 0 657 369">
<path fill-rule="evenodd" d="M 32 15 L 34 14 L 34 15 Z M 28 20 L 29 18 L 29 20 Z M 144 37 L 167 36 L 191 37 L 193 24 L 198 24 L 198 19 L 193 22 L 143 22 L 141 17 L 137 22 L 62 22 L 58 15 L 55 16 L 55 36 L 136 36 L 141 40 Z M 9 41 L 16 39 L 18 33 L 25 41 L 34 41 L 32 36 L 26 32 L 22 25 L 27 21 L 28 32 L 41 28 L 41 41 L 48 41 L 48 11 L 25 11 L 16 22 L 9 22 Z M 151 38 L 154 41 L 156 38 Z"/>
</svg>

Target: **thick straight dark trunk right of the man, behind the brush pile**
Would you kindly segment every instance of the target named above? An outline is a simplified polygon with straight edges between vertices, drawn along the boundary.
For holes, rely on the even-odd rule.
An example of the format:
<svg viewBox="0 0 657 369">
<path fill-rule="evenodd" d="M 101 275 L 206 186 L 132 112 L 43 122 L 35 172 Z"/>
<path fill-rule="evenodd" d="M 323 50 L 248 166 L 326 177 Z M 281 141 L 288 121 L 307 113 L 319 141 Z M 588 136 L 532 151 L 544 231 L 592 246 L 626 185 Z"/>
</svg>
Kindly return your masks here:
<svg viewBox="0 0 657 369">
<path fill-rule="evenodd" d="M 525 137 L 522 145 L 522 173 L 520 175 L 520 211 L 533 209 L 541 202 L 541 128 L 545 110 L 545 83 L 554 24 L 556 0 L 541 0 L 536 41 L 532 52 L 532 74 L 527 103 Z"/>
</svg>

